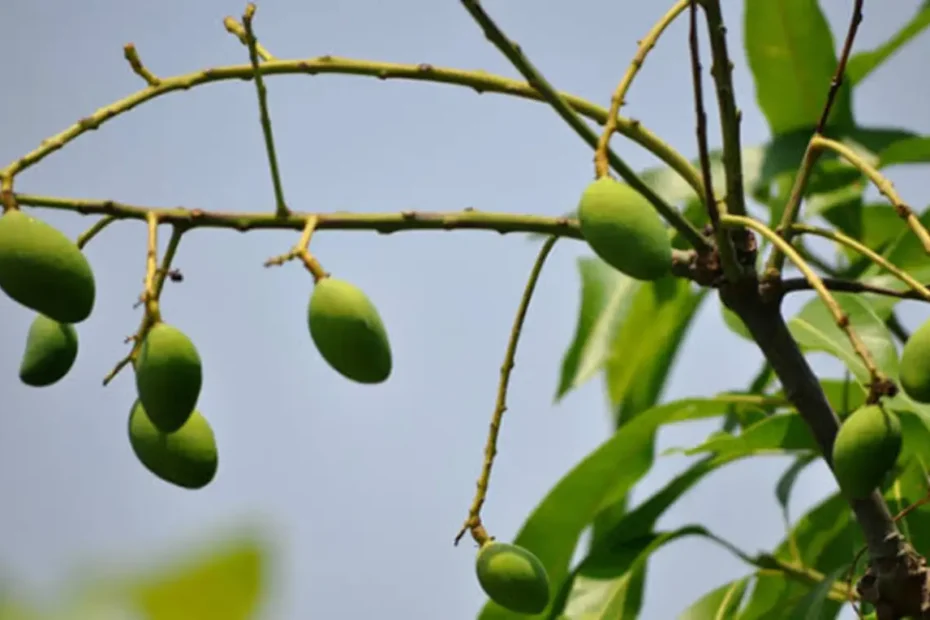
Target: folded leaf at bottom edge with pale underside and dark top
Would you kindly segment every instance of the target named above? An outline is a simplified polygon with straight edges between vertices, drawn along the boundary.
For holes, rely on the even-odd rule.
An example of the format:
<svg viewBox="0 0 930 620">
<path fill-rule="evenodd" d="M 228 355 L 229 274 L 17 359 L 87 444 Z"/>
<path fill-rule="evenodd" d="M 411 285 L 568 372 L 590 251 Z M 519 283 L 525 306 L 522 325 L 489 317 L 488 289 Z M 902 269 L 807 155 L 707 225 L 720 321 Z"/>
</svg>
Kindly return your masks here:
<svg viewBox="0 0 930 620">
<path fill-rule="evenodd" d="M 562 615 L 553 617 L 570 620 L 636 618 L 642 607 L 642 582 L 650 556 L 664 545 L 685 536 L 707 538 L 750 560 L 733 545 L 698 525 L 602 545 L 574 571 L 572 589 Z"/>
</svg>

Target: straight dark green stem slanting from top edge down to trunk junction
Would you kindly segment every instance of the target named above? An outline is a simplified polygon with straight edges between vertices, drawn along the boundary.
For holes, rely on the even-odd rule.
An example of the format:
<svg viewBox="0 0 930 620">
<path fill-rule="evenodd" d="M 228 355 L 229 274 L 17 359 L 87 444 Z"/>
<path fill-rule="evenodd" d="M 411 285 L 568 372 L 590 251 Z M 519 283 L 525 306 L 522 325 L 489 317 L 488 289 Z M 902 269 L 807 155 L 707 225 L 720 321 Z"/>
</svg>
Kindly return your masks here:
<svg viewBox="0 0 930 620">
<path fill-rule="evenodd" d="M 533 66 L 528 58 L 523 54 L 520 46 L 509 40 L 507 36 L 497 27 L 497 24 L 490 18 L 490 16 L 485 13 L 484 9 L 481 8 L 481 4 L 478 0 L 461 0 L 462 5 L 469 12 L 469 14 L 475 19 L 478 25 L 484 31 L 485 36 L 488 38 L 491 43 L 493 43 L 504 56 L 513 64 L 513 66 L 520 71 L 526 81 L 533 86 L 537 91 L 539 91 L 546 101 L 558 112 L 559 116 L 572 128 L 575 132 L 587 142 L 591 148 L 597 149 L 598 146 L 598 136 L 597 134 L 579 117 L 574 110 L 568 105 L 568 103 L 562 98 L 562 96 L 552 87 L 551 84 L 546 80 L 545 77 Z M 701 234 L 694 224 L 689 222 L 685 217 L 679 213 L 674 207 L 665 202 L 661 196 L 652 191 L 652 189 L 646 185 L 642 179 L 633 171 L 632 168 L 626 165 L 622 159 L 620 159 L 613 151 L 610 149 L 607 150 L 607 158 L 610 162 L 611 167 L 617 171 L 617 173 L 626 181 L 633 189 L 642 194 L 646 200 L 652 204 L 652 206 L 658 211 L 662 217 L 668 222 L 675 230 L 677 230 L 682 237 L 688 240 L 691 244 L 691 247 L 698 250 L 699 252 L 707 253 L 712 248 L 707 239 L 704 238 L 704 235 Z"/>
</svg>

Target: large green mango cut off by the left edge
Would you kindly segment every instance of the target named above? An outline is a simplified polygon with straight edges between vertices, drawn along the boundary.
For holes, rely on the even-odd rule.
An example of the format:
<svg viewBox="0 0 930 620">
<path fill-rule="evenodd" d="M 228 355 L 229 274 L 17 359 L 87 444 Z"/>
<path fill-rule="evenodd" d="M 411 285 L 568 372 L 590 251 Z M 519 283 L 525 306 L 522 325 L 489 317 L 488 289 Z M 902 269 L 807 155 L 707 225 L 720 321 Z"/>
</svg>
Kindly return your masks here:
<svg viewBox="0 0 930 620">
<path fill-rule="evenodd" d="M 80 323 L 94 308 L 94 273 L 58 229 L 13 209 L 0 216 L 0 290 L 60 323 Z"/>
</svg>

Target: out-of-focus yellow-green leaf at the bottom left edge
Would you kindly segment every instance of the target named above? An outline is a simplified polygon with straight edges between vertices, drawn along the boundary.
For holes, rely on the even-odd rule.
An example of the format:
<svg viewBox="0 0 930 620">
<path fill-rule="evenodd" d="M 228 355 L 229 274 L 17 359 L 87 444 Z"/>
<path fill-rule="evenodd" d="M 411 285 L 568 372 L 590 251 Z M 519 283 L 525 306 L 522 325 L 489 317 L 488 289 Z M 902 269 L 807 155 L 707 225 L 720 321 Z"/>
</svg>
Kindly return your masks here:
<svg viewBox="0 0 930 620">
<path fill-rule="evenodd" d="M 247 620 L 262 593 L 263 545 L 243 538 L 150 576 L 131 597 L 146 620 Z"/>
</svg>

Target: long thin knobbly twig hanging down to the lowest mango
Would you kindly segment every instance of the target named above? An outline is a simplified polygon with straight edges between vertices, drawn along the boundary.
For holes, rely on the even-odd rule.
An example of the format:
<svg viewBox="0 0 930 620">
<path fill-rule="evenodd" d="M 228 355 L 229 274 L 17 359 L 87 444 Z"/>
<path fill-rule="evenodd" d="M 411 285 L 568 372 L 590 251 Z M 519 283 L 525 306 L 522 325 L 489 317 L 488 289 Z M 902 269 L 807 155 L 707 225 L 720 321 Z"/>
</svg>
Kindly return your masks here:
<svg viewBox="0 0 930 620">
<path fill-rule="evenodd" d="M 542 273 L 546 258 L 549 256 L 549 252 L 552 251 L 552 246 L 555 245 L 556 241 L 558 241 L 558 237 L 549 237 L 540 248 L 533 269 L 530 271 L 530 277 L 527 279 L 523 296 L 520 298 L 520 305 L 513 321 L 513 328 L 510 330 L 510 340 L 507 342 L 507 351 L 504 354 L 504 363 L 501 365 L 500 383 L 497 387 L 497 403 L 494 407 L 488 440 L 484 448 L 484 463 L 481 466 L 481 476 L 478 478 L 475 498 L 468 510 L 468 519 L 465 520 L 465 524 L 455 537 L 456 545 L 459 544 L 467 531 L 471 531 L 472 537 L 479 545 L 483 544 L 488 538 L 487 532 L 481 523 L 481 507 L 484 505 L 487 496 L 491 468 L 494 466 L 494 457 L 497 455 L 497 436 L 500 433 L 504 412 L 507 410 L 507 387 L 510 383 L 510 373 L 513 370 L 514 358 L 517 355 L 517 343 L 520 341 L 523 321 L 526 319 L 526 312 L 530 307 L 533 291 L 536 289 L 536 282 L 539 280 L 539 274 Z"/>
</svg>

